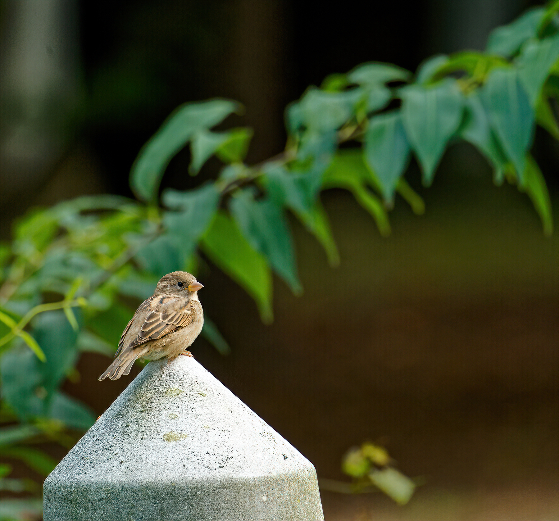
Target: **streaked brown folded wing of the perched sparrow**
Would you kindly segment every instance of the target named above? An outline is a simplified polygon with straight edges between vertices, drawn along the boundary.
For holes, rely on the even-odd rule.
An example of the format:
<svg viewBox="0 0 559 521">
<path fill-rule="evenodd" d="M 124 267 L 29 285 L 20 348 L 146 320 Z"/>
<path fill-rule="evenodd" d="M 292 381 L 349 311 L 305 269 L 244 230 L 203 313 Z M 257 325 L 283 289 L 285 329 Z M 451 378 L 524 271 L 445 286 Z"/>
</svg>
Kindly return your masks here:
<svg viewBox="0 0 559 521">
<path fill-rule="evenodd" d="M 182 297 L 151 297 L 149 310 L 138 336 L 130 343 L 130 348 L 157 340 L 177 328 L 192 322 L 192 302 Z"/>
</svg>

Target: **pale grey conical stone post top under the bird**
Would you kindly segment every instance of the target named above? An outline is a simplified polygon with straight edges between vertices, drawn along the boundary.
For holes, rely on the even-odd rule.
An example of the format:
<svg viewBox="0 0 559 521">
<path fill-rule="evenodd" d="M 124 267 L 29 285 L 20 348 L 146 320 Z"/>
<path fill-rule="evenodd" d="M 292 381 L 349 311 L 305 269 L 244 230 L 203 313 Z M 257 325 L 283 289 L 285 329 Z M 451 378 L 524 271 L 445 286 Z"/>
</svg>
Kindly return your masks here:
<svg viewBox="0 0 559 521">
<path fill-rule="evenodd" d="M 47 477 L 45 521 L 322 520 L 312 464 L 195 359 L 150 362 Z"/>
</svg>

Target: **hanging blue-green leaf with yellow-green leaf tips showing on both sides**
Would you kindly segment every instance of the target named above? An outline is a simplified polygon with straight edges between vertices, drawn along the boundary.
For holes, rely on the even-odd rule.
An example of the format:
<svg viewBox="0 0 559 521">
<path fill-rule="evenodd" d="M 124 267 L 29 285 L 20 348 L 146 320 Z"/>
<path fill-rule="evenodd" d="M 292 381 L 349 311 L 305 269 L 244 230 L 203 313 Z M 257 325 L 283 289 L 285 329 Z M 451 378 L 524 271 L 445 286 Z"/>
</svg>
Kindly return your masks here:
<svg viewBox="0 0 559 521">
<path fill-rule="evenodd" d="M 365 136 L 364 158 L 376 174 L 386 201 L 392 201 L 410 155 L 400 111 L 374 116 Z"/>
</svg>

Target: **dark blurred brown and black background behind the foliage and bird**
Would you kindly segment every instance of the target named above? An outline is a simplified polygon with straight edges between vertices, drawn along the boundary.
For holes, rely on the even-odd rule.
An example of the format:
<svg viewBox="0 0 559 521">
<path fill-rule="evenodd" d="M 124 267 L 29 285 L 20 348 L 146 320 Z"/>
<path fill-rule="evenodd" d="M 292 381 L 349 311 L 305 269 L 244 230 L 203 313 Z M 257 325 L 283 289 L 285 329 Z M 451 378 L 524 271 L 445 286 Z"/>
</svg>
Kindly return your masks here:
<svg viewBox="0 0 559 521">
<path fill-rule="evenodd" d="M 283 109 L 309 84 L 363 61 L 415 70 L 483 49 L 492 28 L 539 3 L 4 0 L 0 236 L 32 206 L 131 196 L 136 154 L 180 103 L 241 101 L 245 115 L 225 125 L 254 127 L 257 162 L 282 150 Z M 559 148 L 543 132 L 535 143 L 557 214 Z M 189 159 L 173 159 L 163 188 L 216 175 L 217 160 L 188 176 Z M 323 492 L 328 521 L 559 519 L 557 234 L 544 238 L 528 198 L 495 187 L 468 145 L 448 151 L 432 188 L 414 164 L 406 177 L 427 212 L 396 201 L 387 239 L 349 193 L 324 194 L 337 269 L 293 220 L 305 293 L 277 280 L 271 326 L 202 264 L 203 305 L 232 353 L 203 339 L 193 352 L 320 477 L 343 480 L 340 458 L 367 439 L 423 477 L 405 507 Z M 107 361 L 84 354 L 81 381 L 65 384 L 99 414 L 130 382 L 98 382 Z"/>
</svg>

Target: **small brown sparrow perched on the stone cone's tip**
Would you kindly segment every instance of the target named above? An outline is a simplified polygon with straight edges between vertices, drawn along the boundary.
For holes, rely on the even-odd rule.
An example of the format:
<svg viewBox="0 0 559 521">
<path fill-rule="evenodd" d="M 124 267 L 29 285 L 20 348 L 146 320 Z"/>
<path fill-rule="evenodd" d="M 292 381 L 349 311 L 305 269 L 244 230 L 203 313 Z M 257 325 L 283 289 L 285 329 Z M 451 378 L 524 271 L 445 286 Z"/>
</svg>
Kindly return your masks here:
<svg viewBox="0 0 559 521">
<path fill-rule="evenodd" d="M 122 332 L 116 360 L 99 377 L 117 380 L 127 375 L 136 358 L 174 360 L 202 330 L 204 312 L 198 290 L 203 286 L 190 273 L 174 271 L 161 277 L 155 292 L 135 312 Z"/>
</svg>

